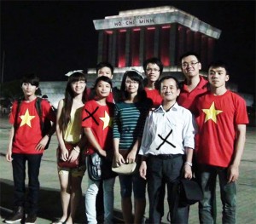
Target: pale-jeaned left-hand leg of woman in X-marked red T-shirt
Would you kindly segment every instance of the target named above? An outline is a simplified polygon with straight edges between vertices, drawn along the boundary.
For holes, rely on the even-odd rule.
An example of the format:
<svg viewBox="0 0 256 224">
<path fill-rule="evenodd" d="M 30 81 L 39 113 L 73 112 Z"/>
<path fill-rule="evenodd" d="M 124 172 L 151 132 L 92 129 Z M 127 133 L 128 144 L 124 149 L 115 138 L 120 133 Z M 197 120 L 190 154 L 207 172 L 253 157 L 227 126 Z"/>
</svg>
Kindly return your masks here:
<svg viewBox="0 0 256 224">
<path fill-rule="evenodd" d="M 96 195 L 99 191 L 100 181 L 91 181 L 88 178 L 88 188 L 85 193 L 85 212 L 88 224 L 96 224 Z"/>
</svg>

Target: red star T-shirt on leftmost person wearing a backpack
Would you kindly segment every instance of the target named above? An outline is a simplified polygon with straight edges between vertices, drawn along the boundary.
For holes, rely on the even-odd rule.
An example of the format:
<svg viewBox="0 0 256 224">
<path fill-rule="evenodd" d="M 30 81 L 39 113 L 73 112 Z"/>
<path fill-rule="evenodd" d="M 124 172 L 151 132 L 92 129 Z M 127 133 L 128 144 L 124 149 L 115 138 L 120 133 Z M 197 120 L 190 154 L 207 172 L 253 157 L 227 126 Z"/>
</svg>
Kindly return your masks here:
<svg viewBox="0 0 256 224">
<path fill-rule="evenodd" d="M 24 154 L 40 154 L 44 150 L 36 150 L 38 142 L 42 139 L 40 119 L 36 109 L 36 99 L 31 102 L 21 101 L 20 110 L 17 117 L 17 129 L 13 141 L 12 152 Z M 17 112 L 17 101 L 14 102 L 9 117 L 9 123 L 15 124 L 15 114 Z M 49 118 L 55 123 L 55 112 L 51 109 L 48 101 L 42 100 L 42 119 Z"/>
</svg>

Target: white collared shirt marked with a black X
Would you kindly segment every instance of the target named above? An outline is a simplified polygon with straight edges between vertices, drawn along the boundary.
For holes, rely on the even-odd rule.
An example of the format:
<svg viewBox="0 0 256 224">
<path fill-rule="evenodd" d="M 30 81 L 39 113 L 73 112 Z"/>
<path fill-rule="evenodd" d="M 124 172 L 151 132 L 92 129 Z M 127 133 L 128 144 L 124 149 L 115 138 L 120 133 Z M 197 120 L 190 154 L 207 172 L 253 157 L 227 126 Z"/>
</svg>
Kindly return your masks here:
<svg viewBox="0 0 256 224">
<path fill-rule="evenodd" d="M 177 103 L 169 111 L 160 106 L 148 114 L 140 155 L 185 154 L 184 147 L 195 148 L 195 118 Z"/>
</svg>

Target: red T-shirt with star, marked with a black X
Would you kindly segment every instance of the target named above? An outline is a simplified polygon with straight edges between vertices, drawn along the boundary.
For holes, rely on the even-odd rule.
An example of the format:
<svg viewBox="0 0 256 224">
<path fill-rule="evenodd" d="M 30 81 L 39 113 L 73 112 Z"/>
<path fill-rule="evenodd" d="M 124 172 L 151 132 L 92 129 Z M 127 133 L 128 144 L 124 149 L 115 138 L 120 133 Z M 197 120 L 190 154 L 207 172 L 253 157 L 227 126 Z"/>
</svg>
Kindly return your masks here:
<svg viewBox="0 0 256 224">
<path fill-rule="evenodd" d="M 82 127 L 90 128 L 96 141 L 103 150 L 113 150 L 113 103 L 106 106 L 98 104 L 95 100 L 87 101 L 82 112 Z M 86 154 L 93 154 L 92 146 L 88 146 Z"/>
</svg>

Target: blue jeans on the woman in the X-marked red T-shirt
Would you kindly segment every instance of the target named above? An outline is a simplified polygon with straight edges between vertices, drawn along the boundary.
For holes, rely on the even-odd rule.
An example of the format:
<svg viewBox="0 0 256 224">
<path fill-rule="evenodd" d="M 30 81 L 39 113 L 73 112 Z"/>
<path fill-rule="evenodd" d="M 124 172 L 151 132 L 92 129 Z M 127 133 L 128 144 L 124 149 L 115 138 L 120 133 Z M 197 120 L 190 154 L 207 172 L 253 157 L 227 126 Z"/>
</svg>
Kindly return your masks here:
<svg viewBox="0 0 256 224">
<path fill-rule="evenodd" d="M 103 180 L 104 223 L 113 223 L 113 186 L 115 177 Z M 96 224 L 96 195 L 101 181 L 91 181 L 88 178 L 88 188 L 85 193 L 85 212 L 88 224 Z"/>
</svg>

